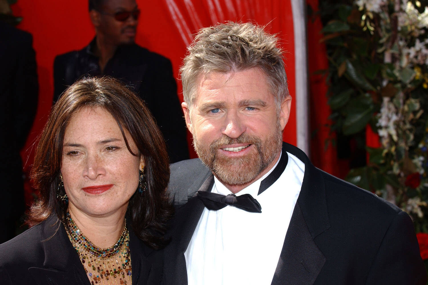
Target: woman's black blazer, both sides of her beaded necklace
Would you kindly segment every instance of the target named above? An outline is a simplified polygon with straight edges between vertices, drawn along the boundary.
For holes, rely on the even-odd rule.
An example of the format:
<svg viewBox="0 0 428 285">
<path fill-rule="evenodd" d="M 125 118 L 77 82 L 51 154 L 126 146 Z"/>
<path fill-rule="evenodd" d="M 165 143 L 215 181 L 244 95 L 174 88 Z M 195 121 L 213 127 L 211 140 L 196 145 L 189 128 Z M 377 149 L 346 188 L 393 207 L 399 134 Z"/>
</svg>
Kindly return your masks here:
<svg viewBox="0 0 428 285">
<path fill-rule="evenodd" d="M 129 229 L 132 285 L 159 284 L 162 253 Z M 1 285 L 90 285 L 62 223 L 52 215 L 0 245 Z"/>
</svg>

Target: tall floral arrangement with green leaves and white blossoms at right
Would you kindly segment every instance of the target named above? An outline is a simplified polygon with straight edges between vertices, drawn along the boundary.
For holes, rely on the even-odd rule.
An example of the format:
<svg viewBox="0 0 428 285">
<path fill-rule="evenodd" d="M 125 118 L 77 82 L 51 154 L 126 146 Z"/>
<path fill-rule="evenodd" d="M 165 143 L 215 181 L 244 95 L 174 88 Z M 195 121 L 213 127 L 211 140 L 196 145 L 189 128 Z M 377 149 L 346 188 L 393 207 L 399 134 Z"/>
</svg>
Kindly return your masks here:
<svg viewBox="0 0 428 285">
<path fill-rule="evenodd" d="M 428 0 L 325 0 L 320 14 L 331 130 L 379 138 L 367 147 L 366 166 L 346 179 L 395 203 L 416 232 L 428 233 Z"/>
</svg>

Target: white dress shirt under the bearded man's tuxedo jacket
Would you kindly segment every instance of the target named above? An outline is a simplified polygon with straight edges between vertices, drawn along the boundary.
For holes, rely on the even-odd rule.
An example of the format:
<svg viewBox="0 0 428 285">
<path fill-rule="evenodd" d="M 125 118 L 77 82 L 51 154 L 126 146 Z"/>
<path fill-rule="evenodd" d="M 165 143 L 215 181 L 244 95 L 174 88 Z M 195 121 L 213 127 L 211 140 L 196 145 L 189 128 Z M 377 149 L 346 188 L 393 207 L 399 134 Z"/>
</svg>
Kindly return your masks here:
<svg viewBox="0 0 428 285">
<path fill-rule="evenodd" d="M 262 213 L 233 206 L 203 210 L 184 252 L 189 285 L 270 285 L 305 171 L 302 161 L 287 154 L 285 170 L 260 195 L 260 183 L 279 160 L 268 173 L 236 193 L 256 198 Z M 212 192 L 232 193 L 215 176 Z"/>
</svg>

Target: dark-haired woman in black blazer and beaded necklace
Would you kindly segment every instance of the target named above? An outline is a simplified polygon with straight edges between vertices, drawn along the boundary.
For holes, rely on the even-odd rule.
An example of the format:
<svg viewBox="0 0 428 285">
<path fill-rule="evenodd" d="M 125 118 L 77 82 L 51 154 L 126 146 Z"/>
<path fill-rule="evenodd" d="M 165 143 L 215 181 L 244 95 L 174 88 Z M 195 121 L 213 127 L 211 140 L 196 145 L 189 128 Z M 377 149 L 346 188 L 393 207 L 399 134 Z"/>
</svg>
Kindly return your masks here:
<svg viewBox="0 0 428 285">
<path fill-rule="evenodd" d="M 146 106 L 109 77 L 53 107 L 36 149 L 31 227 L 0 245 L 0 284 L 158 284 L 171 214 L 165 143 Z"/>
</svg>

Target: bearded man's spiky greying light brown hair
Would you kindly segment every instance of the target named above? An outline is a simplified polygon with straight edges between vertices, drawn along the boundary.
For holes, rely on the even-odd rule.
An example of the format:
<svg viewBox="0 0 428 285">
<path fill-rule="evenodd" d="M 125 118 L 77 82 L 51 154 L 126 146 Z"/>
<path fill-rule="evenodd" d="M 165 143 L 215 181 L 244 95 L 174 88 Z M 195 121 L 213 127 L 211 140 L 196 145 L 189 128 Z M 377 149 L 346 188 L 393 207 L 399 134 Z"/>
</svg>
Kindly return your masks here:
<svg viewBox="0 0 428 285">
<path fill-rule="evenodd" d="M 227 22 L 200 29 L 180 68 L 184 102 L 193 105 L 201 75 L 260 68 L 279 106 L 289 93 L 282 50 L 277 45 L 275 35 L 251 23 Z"/>
</svg>

